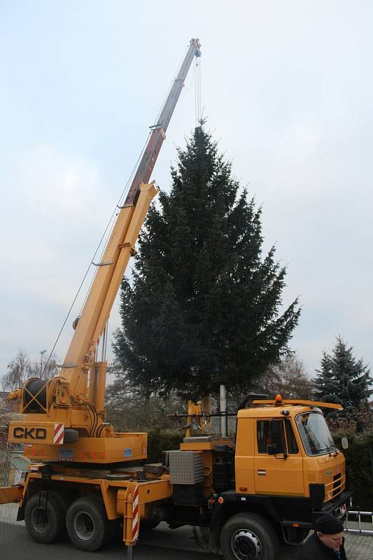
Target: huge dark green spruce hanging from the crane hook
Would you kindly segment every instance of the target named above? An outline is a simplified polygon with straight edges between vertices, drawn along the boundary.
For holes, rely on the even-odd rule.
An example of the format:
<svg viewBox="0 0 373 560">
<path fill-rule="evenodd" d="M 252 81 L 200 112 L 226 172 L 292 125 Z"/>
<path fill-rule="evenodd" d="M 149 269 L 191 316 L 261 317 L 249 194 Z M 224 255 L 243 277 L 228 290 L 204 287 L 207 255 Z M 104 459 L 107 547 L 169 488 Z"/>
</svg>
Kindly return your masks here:
<svg viewBox="0 0 373 560">
<path fill-rule="evenodd" d="M 280 313 L 286 268 L 274 248 L 262 258 L 261 209 L 203 127 L 171 179 L 122 281 L 116 365 L 147 396 L 244 390 L 286 351 L 298 302 Z"/>
</svg>

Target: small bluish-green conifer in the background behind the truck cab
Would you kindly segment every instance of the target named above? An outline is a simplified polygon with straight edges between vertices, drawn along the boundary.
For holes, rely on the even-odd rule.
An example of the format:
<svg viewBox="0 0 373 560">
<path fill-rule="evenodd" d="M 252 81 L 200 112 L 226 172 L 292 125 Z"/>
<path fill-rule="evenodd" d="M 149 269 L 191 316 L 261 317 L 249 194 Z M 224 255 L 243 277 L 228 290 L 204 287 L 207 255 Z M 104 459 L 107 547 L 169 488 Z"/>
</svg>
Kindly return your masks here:
<svg viewBox="0 0 373 560">
<path fill-rule="evenodd" d="M 323 351 L 321 370 L 316 372 L 314 394 L 319 400 L 337 402 L 347 410 L 367 405 L 373 393 L 370 369 L 340 336 L 331 353 Z"/>
</svg>

